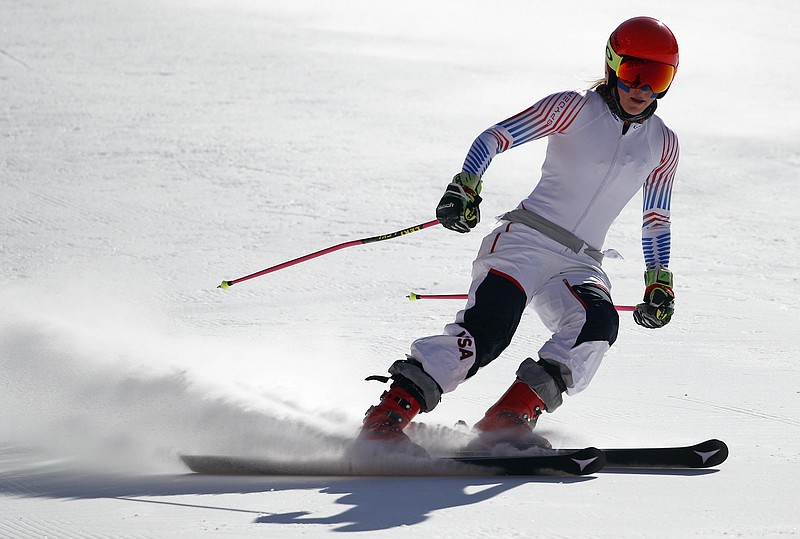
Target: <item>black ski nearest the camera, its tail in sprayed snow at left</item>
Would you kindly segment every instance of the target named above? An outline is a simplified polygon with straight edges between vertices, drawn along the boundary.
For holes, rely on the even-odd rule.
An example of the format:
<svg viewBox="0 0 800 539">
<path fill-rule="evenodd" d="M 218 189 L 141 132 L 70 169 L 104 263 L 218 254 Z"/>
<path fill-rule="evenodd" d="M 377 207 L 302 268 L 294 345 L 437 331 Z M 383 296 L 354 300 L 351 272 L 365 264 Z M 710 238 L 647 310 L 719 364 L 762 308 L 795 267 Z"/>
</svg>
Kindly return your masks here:
<svg viewBox="0 0 800 539">
<path fill-rule="evenodd" d="M 588 475 L 600 471 L 605 455 L 587 447 L 520 456 L 449 456 L 420 458 L 386 455 L 375 459 L 276 458 L 182 455 L 193 472 L 204 475 L 278 476 L 534 476 Z"/>
</svg>

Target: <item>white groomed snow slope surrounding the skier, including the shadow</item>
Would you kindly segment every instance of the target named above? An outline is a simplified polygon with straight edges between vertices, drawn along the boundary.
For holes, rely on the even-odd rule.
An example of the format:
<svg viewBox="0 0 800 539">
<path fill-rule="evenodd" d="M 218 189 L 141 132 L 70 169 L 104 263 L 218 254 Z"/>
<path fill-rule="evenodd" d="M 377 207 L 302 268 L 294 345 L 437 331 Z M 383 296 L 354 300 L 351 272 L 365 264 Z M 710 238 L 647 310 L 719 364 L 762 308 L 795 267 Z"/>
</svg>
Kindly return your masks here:
<svg viewBox="0 0 800 539">
<path fill-rule="evenodd" d="M 800 11 L 792 0 L 17 0 L 0 20 L 0 536 L 800 535 L 796 230 Z M 181 452 L 335 446 L 458 301 L 491 216 L 545 143 L 495 160 L 484 221 L 222 279 L 430 220 L 472 139 L 602 73 L 609 32 L 661 18 L 681 65 L 678 311 L 623 317 L 554 445 L 718 437 L 718 471 L 589 478 L 204 478 Z M 638 197 L 606 247 L 641 295 Z M 426 422 L 475 421 L 546 332 Z"/>
</svg>

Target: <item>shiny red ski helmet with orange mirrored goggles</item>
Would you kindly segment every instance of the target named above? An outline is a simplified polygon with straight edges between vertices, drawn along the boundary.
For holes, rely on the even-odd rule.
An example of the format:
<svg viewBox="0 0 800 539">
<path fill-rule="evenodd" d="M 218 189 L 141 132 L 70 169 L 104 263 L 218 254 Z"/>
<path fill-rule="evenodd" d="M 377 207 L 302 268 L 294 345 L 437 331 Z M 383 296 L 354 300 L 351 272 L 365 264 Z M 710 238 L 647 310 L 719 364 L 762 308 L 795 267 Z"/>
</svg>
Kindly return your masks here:
<svg viewBox="0 0 800 539">
<path fill-rule="evenodd" d="M 650 69 L 645 69 L 645 72 L 642 73 L 644 77 L 650 77 L 650 80 L 645 78 L 641 82 L 642 86 L 652 82 L 651 88 L 658 94 L 658 97 L 662 97 L 667 93 L 678 70 L 678 42 L 675 40 L 675 35 L 664 23 L 652 17 L 628 19 L 620 24 L 608 38 L 606 81 L 615 82 L 617 76 L 620 75 L 621 66 L 632 59 L 672 66 L 672 69 L 661 66 L 664 68 L 661 70 L 653 69 L 653 66 L 650 66 Z M 643 63 L 638 62 L 638 64 Z M 632 70 L 635 71 L 636 68 Z"/>
</svg>

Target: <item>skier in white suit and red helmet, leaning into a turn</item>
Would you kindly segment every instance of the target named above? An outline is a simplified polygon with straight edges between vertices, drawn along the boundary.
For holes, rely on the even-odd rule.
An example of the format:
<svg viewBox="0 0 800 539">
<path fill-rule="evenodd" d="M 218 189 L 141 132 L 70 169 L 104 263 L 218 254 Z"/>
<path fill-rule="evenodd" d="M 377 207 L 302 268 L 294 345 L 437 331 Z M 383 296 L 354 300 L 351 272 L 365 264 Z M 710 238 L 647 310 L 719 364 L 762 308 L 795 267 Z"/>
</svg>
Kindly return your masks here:
<svg viewBox="0 0 800 539">
<path fill-rule="evenodd" d="M 633 317 L 646 328 L 670 321 L 678 139 L 654 113 L 675 76 L 678 45 L 663 23 L 636 17 L 614 30 L 605 57 L 605 78 L 592 89 L 545 97 L 473 142 L 436 208 L 446 228 L 464 233 L 478 224 L 482 177 L 497 154 L 547 137 L 541 178 L 483 240 L 469 298 L 455 322 L 443 335 L 414 341 L 407 358 L 391 365 L 391 387 L 367 411 L 360 441 L 417 452 L 404 428 L 497 358 L 528 305 L 552 336 L 538 358 L 522 362 L 473 430 L 486 446 L 535 441 L 539 415 L 554 412 L 563 393 L 584 390 L 617 338 L 619 317 L 600 249 L 611 223 L 642 187 L 645 292 Z"/>
</svg>

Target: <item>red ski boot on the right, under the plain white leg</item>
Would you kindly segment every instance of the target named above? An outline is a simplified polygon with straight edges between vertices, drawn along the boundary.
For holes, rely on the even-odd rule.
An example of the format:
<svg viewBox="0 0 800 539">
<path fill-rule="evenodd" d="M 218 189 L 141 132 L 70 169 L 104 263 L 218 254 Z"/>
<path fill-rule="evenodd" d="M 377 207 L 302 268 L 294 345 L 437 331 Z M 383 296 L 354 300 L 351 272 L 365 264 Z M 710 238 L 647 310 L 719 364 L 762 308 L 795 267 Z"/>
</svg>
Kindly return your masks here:
<svg viewBox="0 0 800 539">
<path fill-rule="evenodd" d="M 544 410 L 539 395 L 528 384 L 517 380 L 475 424 L 473 430 L 478 433 L 478 439 L 470 445 L 473 449 L 481 446 L 488 449 L 501 443 L 520 448 L 532 445 L 549 448 L 550 442 L 533 432 L 536 419 Z"/>
</svg>

